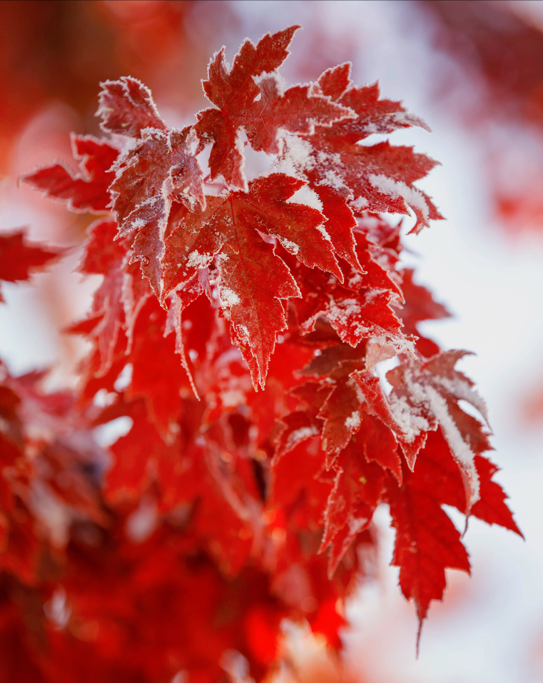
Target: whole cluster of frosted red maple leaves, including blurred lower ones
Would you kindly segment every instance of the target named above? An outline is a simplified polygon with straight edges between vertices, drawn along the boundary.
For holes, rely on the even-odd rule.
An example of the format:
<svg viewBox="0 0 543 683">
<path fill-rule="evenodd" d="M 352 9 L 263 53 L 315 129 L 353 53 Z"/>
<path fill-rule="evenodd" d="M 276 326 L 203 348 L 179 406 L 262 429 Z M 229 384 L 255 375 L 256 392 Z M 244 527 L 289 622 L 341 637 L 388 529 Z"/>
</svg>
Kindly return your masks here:
<svg viewBox="0 0 543 683">
<path fill-rule="evenodd" d="M 283 619 L 340 647 L 378 506 L 420 624 L 445 570 L 470 570 L 443 505 L 519 532 L 455 369 L 466 352 L 418 332 L 448 314 L 382 216 L 440 218 L 414 186 L 435 162 L 367 141 L 425 123 L 347 64 L 286 88 L 297 28 L 246 40 L 232 66 L 215 54 L 212 106 L 182 130 L 138 80 L 107 81 L 106 136 L 73 136 L 78 170 L 24 178 L 98 215 L 79 270 L 102 282 L 69 330 L 91 343 L 75 392 L 1 368 L 0 629 L 23 634 L 4 641 L 6 680 L 24 654 L 29 681 L 204 683 L 233 651 L 260 680 Z M 270 173 L 247 177 L 247 146 Z M 118 418 L 130 428 L 99 447 Z"/>
</svg>

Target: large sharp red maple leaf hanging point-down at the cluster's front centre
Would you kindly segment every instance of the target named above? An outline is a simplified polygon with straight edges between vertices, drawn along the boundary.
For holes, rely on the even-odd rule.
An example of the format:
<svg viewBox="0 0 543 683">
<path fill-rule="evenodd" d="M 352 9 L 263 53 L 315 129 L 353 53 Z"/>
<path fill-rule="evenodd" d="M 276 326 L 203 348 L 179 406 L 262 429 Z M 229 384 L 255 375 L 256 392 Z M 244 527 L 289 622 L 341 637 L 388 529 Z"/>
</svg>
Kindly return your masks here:
<svg viewBox="0 0 543 683">
<path fill-rule="evenodd" d="M 220 301 L 256 385 L 264 383 L 276 333 L 286 328 L 280 299 L 300 295 L 288 265 L 259 233 L 287 248 L 295 244 L 290 251 L 301 261 L 342 275 L 333 246 L 318 230 L 323 215 L 288 201 L 300 187 L 296 178 L 273 174 L 256 178 L 248 193 L 208 197 L 205 211 L 188 213 L 166 243 L 164 297 L 216 256 Z"/>
</svg>

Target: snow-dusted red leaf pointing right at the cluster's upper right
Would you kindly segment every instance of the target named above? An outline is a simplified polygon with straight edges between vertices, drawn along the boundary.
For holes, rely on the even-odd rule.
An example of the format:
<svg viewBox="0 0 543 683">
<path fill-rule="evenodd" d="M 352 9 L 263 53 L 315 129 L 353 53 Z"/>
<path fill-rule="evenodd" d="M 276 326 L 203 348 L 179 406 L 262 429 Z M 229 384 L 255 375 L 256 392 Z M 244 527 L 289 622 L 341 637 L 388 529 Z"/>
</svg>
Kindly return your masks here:
<svg viewBox="0 0 543 683">
<path fill-rule="evenodd" d="M 354 116 L 345 116 L 332 126 L 315 126 L 303 136 L 308 146 L 303 163 L 296 147 L 285 146 L 283 163 L 293 165 L 315 188 L 332 188 L 357 212 L 409 213 L 417 217 L 414 231 L 442 218 L 425 193 L 413 186 L 435 166 L 435 162 L 411 147 L 391 146 L 388 141 L 361 146 L 372 133 L 390 133 L 397 128 L 422 126 L 399 102 L 380 100 L 377 84 L 357 88 L 350 81 L 349 65 L 328 69 L 313 88 Z"/>
</svg>

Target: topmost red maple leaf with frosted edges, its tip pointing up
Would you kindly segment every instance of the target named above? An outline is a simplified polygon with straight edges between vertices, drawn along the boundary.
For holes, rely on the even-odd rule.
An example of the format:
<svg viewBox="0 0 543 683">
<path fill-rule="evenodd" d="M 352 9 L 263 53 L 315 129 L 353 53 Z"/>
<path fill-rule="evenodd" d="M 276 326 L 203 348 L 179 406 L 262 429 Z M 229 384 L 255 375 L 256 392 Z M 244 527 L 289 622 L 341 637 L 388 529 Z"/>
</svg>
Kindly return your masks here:
<svg viewBox="0 0 543 683">
<path fill-rule="evenodd" d="M 310 86 L 295 86 L 281 92 L 275 70 L 288 56 L 288 46 L 299 26 L 266 34 L 255 46 L 246 40 L 229 68 L 225 49 L 208 66 L 203 89 L 214 108 L 198 113 L 196 131 L 201 148 L 213 143 L 209 166 L 211 178 L 222 175 L 228 186 L 247 191 L 243 174 L 244 131 L 253 149 L 277 154 L 280 128 L 308 133 L 315 124 L 330 126 L 352 116 L 346 107 Z"/>
</svg>

